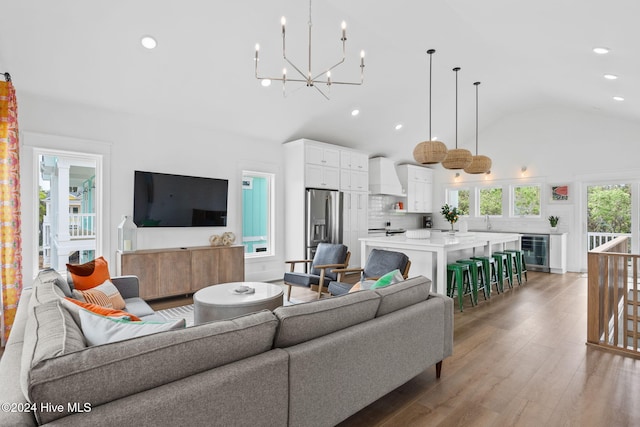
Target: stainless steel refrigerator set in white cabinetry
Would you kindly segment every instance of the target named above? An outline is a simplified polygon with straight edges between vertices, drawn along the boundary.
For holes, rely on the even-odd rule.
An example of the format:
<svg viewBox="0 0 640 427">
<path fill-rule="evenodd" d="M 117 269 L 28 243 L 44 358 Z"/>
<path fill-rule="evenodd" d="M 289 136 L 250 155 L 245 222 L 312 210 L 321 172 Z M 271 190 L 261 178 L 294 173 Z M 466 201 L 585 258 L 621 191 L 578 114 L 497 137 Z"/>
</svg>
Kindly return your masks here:
<svg viewBox="0 0 640 427">
<path fill-rule="evenodd" d="M 308 188 L 305 253 L 313 259 L 318 243 L 342 243 L 342 193 Z"/>
</svg>

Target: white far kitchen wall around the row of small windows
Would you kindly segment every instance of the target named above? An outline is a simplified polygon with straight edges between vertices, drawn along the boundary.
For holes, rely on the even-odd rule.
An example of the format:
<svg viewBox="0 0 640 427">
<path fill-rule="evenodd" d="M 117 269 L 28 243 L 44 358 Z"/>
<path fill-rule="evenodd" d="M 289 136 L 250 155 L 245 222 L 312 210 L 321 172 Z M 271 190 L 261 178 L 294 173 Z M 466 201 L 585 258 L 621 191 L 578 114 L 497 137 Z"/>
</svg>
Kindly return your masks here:
<svg viewBox="0 0 640 427">
<path fill-rule="evenodd" d="M 475 135 L 474 137 L 475 138 Z M 568 232 L 569 271 L 582 271 L 586 260 L 584 229 L 586 207 L 583 200 L 587 183 L 625 180 L 637 191 L 640 179 L 640 126 L 611 119 L 596 112 L 564 106 L 551 106 L 514 113 L 491 123 L 479 134 L 479 152 L 491 157 L 490 179 L 436 166 L 434 206 L 445 203 L 445 188 L 500 184 L 505 190 L 518 183 L 543 184 L 542 218 L 492 219 L 494 229 L 521 232 L 548 232 L 547 217 L 560 217 L 559 231 Z M 464 148 L 470 148 L 470 141 Z M 521 168 L 527 167 L 526 176 Z M 551 184 L 571 185 L 568 203 L 548 203 Z M 635 208 L 634 208 L 635 209 Z M 446 227 L 439 209 L 434 226 Z M 470 218 L 470 228 L 485 227 L 479 218 Z M 637 228 L 637 226 L 636 226 Z"/>
</svg>

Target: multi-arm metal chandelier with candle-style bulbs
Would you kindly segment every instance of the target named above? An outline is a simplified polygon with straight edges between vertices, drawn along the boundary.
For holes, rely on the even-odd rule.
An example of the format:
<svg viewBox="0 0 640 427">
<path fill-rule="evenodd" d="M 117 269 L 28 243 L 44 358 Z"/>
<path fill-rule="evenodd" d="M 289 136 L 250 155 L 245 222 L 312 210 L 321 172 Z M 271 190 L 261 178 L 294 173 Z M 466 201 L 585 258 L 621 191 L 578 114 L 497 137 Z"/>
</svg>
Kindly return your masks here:
<svg viewBox="0 0 640 427">
<path fill-rule="evenodd" d="M 296 82 L 296 83 L 306 83 L 307 87 L 314 87 L 316 88 L 316 90 L 318 92 L 320 92 L 322 94 L 322 96 L 324 96 L 326 99 L 329 99 L 329 96 L 320 88 L 318 87 L 318 85 L 326 85 L 327 86 L 327 90 L 330 91 L 331 90 L 331 86 L 332 85 L 356 85 L 359 86 L 364 82 L 364 50 L 360 52 L 360 81 L 359 82 L 341 82 L 341 81 L 335 81 L 331 79 L 331 70 L 333 70 L 334 68 L 336 68 L 338 65 L 342 64 L 345 61 L 346 58 L 346 51 L 347 51 L 347 24 L 342 21 L 342 36 L 340 37 L 340 41 L 342 42 L 342 59 L 340 61 L 338 61 L 335 65 L 325 69 L 324 71 L 321 71 L 318 74 L 315 74 L 312 72 L 311 70 L 311 27 L 313 26 L 313 23 L 311 21 L 311 0 L 309 0 L 309 56 L 308 56 L 308 60 L 307 60 L 307 70 L 302 71 L 302 69 L 300 69 L 299 67 L 297 67 L 293 62 L 291 62 L 289 60 L 289 58 L 287 58 L 287 54 L 286 54 L 286 31 L 285 31 L 285 24 L 286 24 L 286 19 L 283 16 L 281 21 L 280 21 L 281 25 L 282 25 L 282 57 L 284 58 L 284 60 L 295 70 L 295 76 L 294 77 L 289 77 L 287 76 L 287 69 L 284 68 L 282 70 L 282 76 L 278 76 L 278 77 L 261 77 L 258 74 L 258 52 L 260 51 L 260 45 L 256 44 L 256 57 L 255 57 L 255 63 L 256 63 L 256 79 L 260 80 L 263 85 L 268 86 L 270 84 L 271 81 L 281 81 L 282 82 L 282 90 L 284 93 L 284 88 L 287 82 Z"/>
</svg>

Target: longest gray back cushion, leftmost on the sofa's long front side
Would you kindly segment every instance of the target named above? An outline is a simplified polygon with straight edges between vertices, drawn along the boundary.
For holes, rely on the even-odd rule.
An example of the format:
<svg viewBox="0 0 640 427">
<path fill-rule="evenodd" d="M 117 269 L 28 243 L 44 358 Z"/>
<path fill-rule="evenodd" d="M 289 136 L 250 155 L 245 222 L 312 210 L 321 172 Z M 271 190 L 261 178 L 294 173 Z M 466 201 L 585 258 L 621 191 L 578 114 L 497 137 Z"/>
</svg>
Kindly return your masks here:
<svg viewBox="0 0 640 427">
<path fill-rule="evenodd" d="M 64 405 L 42 414 L 50 422 L 67 415 L 67 402 L 97 407 L 269 351 L 277 323 L 265 310 L 50 358 L 31 370 L 29 397 Z"/>
</svg>

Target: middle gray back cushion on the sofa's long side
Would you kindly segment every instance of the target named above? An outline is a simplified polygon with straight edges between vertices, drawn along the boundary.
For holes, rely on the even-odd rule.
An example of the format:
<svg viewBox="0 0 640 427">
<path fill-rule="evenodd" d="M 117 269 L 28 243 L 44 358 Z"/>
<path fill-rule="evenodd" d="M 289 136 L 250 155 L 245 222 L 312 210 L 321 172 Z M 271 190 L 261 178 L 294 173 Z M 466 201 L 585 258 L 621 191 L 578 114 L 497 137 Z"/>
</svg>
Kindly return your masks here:
<svg viewBox="0 0 640 427">
<path fill-rule="evenodd" d="M 356 292 L 305 304 L 278 307 L 280 319 L 274 347 L 289 347 L 375 317 L 380 296 Z"/>
</svg>

